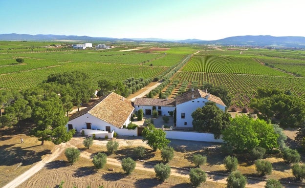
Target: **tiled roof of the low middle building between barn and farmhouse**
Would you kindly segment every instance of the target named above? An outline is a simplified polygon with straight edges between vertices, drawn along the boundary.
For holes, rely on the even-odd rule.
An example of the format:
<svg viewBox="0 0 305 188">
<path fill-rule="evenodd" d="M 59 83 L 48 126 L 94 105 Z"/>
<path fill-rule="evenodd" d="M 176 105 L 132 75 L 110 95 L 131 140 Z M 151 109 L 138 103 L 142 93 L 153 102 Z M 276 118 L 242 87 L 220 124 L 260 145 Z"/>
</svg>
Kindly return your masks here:
<svg viewBox="0 0 305 188">
<path fill-rule="evenodd" d="M 175 106 L 174 99 L 151 99 L 151 98 L 135 98 L 134 105 L 146 106 Z"/>
</svg>

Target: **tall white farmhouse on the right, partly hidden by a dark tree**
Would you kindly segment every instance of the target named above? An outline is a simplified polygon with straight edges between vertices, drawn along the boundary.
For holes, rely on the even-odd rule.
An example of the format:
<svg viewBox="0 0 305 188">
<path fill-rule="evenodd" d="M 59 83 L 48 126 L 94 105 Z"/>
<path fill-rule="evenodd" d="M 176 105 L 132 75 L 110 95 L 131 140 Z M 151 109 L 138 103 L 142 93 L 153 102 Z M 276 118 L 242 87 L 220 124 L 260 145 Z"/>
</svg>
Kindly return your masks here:
<svg viewBox="0 0 305 188">
<path fill-rule="evenodd" d="M 178 95 L 176 97 L 176 126 L 193 127 L 192 113 L 198 107 L 204 106 L 206 102 L 214 102 L 221 110 L 225 110 L 226 105 L 219 97 L 200 89 Z"/>
</svg>

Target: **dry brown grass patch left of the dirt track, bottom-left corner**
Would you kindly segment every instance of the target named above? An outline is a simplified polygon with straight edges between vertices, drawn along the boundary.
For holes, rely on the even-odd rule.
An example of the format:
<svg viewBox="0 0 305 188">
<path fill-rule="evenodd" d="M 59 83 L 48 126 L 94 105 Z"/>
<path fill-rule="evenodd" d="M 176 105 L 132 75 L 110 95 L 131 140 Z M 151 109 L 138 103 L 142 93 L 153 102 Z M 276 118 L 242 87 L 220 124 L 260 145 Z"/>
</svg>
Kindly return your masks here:
<svg viewBox="0 0 305 188">
<path fill-rule="evenodd" d="M 6 131 L 1 131 L 1 135 Z M 20 138 L 24 143 L 21 144 Z M 31 137 L 12 130 L 11 135 L 0 137 L 0 187 L 22 174 L 41 161 L 54 147 L 52 142 L 41 142 L 36 137 Z"/>
</svg>

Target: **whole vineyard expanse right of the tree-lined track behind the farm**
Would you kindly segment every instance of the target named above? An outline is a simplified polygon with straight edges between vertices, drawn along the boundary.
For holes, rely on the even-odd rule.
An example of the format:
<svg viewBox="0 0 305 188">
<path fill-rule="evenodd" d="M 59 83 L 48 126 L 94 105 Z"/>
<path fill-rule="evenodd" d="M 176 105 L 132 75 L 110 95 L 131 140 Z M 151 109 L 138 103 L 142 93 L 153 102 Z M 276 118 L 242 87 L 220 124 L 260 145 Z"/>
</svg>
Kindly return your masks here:
<svg viewBox="0 0 305 188">
<path fill-rule="evenodd" d="M 172 80 L 178 80 L 180 83 L 187 81 L 189 85 L 194 81 L 198 85 L 223 85 L 232 97 L 232 105 L 240 108 L 249 105 L 258 87 L 290 90 L 305 100 L 305 78 L 294 76 L 305 75 L 305 61 L 300 60 L 300 57 L 278 58 L 283 56 L 284 52 L 288 53 L 289 57 L 295 53 L 288 50 L 269 52 L 277 58 L 266 57 L 268 52 L 266 49 L 249 49 L 244 53 L 240 53 L 240 50 L 203 50 L 194 54 Z M 301 56 L 304 54 L 299 51 L 297 53 Z"/>
</svg>

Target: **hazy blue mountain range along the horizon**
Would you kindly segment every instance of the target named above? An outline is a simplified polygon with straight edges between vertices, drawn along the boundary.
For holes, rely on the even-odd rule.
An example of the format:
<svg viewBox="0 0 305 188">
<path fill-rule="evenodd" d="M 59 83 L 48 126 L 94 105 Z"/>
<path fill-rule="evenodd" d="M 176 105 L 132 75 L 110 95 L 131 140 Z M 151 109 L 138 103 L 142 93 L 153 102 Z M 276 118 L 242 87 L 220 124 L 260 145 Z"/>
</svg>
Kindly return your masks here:
<svg viewBox="0 0 305 188">
<path fill-rule="evenodd" d="M 236 36 L 214 41 L 203 41 L 199 39 L 187 40 L 166 40 L 157 38 L 131 38 L 118 39 L 108 37 L 88 37 L 75 35 L 27 35 L 27 34 L 0 34 L 0 41 L 133 41 L 133 42 L 179 42 L 179 43 L 194 43 L 194 44 L 210 44 L 210 45 L 237 45 L 237 46 L 265 46 L 265 47 L 296 47 L 305 48 L 305 37 L 273 37 L 270 35 L 259 36 Z"/>
</svg>

